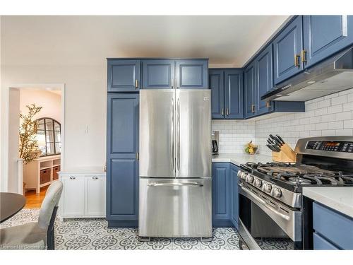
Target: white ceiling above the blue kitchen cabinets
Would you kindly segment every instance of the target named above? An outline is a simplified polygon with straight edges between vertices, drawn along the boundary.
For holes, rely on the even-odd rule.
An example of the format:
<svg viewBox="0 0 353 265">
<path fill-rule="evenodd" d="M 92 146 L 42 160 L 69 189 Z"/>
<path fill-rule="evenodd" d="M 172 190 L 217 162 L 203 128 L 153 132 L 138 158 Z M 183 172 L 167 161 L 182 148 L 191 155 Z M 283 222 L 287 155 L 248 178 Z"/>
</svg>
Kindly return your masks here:
<svg viewBox="0 0 353 265">
<path fill-rule="evenodd" d="M 1 16 L 1 64 L 208 57 L 243 66 L 288 16 Z"/>
</svg>

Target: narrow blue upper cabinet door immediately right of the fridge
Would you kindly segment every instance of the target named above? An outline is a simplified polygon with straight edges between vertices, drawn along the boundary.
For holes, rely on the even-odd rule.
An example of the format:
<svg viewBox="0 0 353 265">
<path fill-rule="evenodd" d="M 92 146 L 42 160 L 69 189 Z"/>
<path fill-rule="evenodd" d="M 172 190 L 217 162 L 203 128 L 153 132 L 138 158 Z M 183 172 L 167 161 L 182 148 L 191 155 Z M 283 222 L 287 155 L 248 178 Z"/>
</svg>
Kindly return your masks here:
<svg viewBox="0 0 353 265">
<path fill-rule="evenodd" d="M 225 86 L 223 70 L 210 69 L 208 72 L 208 83 L 211 89 L 211 114 L 212 119 L 223 119 L 225 117 Z"/>
</svg>

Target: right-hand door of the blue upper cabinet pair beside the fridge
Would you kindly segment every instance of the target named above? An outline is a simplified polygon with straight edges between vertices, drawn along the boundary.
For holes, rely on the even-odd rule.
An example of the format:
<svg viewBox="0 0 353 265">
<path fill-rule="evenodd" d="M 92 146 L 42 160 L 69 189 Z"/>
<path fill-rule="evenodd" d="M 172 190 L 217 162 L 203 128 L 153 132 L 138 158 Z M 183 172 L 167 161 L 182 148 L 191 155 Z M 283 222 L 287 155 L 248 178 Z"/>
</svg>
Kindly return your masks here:
<svg viewBox="0 0 353 265">
<path fill-rule="evenodd" d="M 225 118 L 243 119 L 243 70 L 225 70 Z"/>
</svg>

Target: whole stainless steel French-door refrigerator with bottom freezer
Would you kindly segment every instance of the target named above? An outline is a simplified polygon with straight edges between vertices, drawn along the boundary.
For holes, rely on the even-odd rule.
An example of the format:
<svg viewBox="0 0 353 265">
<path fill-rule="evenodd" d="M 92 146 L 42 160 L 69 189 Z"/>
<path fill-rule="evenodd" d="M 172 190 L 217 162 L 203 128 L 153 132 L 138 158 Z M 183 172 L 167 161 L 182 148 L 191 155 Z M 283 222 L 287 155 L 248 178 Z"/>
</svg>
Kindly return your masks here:
<svg viewBox="0 0 353 265">
<path fill-rule="evenodd" d="M 210 90 L 140 90 L 140 237 L 211 237 Z"/>
</svg>

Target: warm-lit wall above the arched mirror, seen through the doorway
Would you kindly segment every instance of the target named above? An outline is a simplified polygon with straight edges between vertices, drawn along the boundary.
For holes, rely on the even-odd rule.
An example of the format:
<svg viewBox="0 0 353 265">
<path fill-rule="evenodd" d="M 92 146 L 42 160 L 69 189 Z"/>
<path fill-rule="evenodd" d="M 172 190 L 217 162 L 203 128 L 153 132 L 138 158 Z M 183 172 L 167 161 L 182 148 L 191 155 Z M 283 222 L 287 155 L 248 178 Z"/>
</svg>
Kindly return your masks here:
<svg viewBox="0 0 353 265">
<path fill-rule="evenodd" d="M 20 90 L 20 112 L 28 113 L 26 105 L 42 107 L 34 119 L 49 117 L 61 123 L 61 95 L 46 90 Z"/>
</svg>

